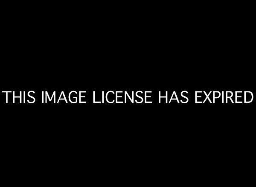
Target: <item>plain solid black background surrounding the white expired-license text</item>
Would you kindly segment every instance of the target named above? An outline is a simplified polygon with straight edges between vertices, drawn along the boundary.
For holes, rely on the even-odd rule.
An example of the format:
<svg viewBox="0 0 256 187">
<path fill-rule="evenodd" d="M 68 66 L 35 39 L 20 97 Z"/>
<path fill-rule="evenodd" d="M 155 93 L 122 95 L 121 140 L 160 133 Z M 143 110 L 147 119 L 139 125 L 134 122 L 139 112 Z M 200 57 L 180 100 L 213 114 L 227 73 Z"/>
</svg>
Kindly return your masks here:
<svg viewBox="0 0 256 187">
<path fill-rule="evenodd" d="M 255 101 L 196 105 L 193 96 L 255 94 L 247 7 L 42 7 L 3 13 L 1 91 L 152 90 L 154 104 L 2 102 L 5 176 L 131 184 L 250 178 Z M 157 91 L 183 90 L 187 105 L 157 104 Z"/>
</svg>

